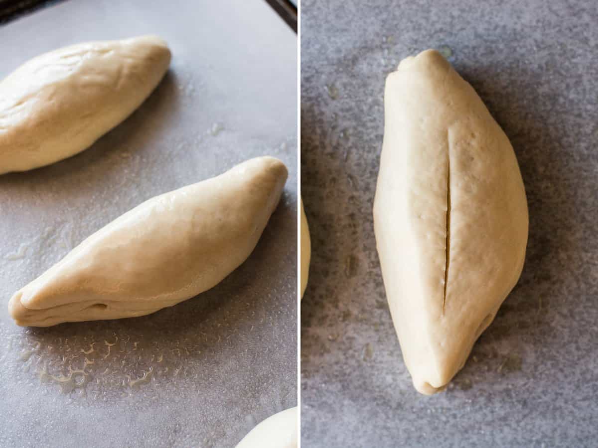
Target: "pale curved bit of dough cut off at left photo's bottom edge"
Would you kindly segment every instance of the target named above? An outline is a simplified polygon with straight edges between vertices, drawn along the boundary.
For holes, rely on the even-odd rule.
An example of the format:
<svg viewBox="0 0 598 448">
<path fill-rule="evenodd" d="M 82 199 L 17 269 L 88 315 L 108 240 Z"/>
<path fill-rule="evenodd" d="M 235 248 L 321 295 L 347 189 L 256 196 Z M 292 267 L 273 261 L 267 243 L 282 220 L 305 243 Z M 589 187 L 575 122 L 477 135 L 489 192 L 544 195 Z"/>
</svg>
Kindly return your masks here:
<svg viewBox="0 0 598 448">
<path fill-rule="evenodd" d="M 297 448 L 297 438 L 297 407 L 291 407 L 255 426 L 236 448 Z"/>
</svg>

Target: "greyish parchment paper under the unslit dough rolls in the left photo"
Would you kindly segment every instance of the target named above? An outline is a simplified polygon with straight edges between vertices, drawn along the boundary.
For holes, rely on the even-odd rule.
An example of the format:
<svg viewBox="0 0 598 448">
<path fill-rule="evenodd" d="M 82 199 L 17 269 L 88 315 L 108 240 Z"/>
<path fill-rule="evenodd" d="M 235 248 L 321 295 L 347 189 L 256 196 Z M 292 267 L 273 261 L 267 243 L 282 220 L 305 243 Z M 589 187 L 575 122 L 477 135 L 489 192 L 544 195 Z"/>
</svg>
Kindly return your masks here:
<svg viewBox="0 0 598 448">
<path fill-rule="evenodd" d="M 157 33 L 172 64 L 87 151 L 0 176 L 0 446 L 233 447 L 297 403 L 297 37 L 266 2 L 78 0 L 0 27 L 0 77 L 74 42 Z M 249 259 L 147 317 L 23 329 L 10 296 L 120 214 L 237 162 L 289 168 Z"/>
</svg>

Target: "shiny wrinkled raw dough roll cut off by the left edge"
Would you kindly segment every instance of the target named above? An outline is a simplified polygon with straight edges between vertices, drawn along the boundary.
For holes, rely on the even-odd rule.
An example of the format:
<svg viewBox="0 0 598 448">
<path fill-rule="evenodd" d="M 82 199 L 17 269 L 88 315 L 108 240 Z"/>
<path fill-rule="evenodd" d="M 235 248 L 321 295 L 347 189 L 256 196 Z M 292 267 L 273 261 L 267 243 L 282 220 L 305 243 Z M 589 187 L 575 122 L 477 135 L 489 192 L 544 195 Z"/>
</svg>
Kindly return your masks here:
<svg viewBox="0 0 598 448">
<path fill-rule="evenodd" d="M 87 42 L 35 57 L 0 82 L 0 174 L 71 157 L 130 115 L 166 73 L 155 36 Z"/>
</svg>

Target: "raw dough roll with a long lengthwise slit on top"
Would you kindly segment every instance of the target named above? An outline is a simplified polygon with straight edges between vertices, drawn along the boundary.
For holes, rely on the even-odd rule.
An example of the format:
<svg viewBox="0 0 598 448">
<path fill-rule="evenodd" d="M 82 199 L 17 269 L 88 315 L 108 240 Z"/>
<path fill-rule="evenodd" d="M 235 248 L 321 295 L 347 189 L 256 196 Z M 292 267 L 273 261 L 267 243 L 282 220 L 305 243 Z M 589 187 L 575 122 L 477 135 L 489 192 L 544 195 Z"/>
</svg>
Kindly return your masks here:
<svg viewBox="0 0 598 448">
<path fill-rule="evenodd" d="M 386 79 L 374 231 L 395 330 L 416 389 L 463 367 L 517 283 L 527 201 L 511 143 L 437 51 Z"/>
</svg>

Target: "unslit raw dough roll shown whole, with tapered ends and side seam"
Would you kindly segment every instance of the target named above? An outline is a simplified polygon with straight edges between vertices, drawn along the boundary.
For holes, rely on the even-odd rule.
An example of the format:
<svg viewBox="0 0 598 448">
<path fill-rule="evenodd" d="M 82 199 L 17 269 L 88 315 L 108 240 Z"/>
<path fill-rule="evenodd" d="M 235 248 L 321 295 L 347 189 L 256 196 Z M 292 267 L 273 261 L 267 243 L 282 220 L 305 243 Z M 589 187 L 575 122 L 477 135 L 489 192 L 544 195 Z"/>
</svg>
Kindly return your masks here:
<svg viewBox="0 0 598 448">
<path fill-rule="evenodd" d="M 260 157 L 157 196 L 69 252 L 8 302 L 18 325 L 136 317 L 215 286 L 254 250 L 286 182 Z"/>
</svg>

